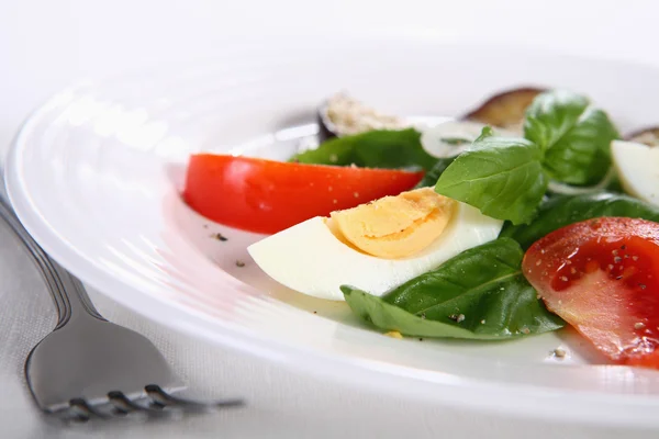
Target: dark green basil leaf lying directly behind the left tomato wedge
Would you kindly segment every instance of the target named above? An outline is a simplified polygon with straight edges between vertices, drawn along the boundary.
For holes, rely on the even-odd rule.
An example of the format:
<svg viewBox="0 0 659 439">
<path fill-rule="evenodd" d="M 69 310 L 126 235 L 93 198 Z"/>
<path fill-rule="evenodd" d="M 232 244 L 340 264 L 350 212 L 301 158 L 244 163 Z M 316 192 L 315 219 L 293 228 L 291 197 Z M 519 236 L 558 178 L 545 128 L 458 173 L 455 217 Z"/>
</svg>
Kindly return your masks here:
<svg viewBox="0 0 659 439">
<path fill-rule="evenodd" d="M 421 144 L 421 133 L 414 128 L 379 130 L 336 137 L 316 149 L 298 154 L 291 161 L 301 164 L 356 165 L 366 168 L 422 168 L 429 170 L 437 158 Z"/>
</svg>

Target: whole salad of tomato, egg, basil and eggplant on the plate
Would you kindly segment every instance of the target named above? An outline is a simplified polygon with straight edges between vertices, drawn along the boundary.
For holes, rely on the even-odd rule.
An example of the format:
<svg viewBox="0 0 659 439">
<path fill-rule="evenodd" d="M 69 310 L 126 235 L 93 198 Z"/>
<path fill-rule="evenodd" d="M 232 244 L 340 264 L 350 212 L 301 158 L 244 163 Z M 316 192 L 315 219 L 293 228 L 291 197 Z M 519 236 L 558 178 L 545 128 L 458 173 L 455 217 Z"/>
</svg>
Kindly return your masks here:
<svg viewBox="0 0 659 439">
<path fill-rule="evenodd" d="M 273 280 L 395 337 L 573 326 L 659 368 L 659 128 L 625 137 L 566 90 L 521 88 L 432 126 L 337 94 L 288 161 L 198 154 L 183 199 L 265 234 Z"/>
</svg>

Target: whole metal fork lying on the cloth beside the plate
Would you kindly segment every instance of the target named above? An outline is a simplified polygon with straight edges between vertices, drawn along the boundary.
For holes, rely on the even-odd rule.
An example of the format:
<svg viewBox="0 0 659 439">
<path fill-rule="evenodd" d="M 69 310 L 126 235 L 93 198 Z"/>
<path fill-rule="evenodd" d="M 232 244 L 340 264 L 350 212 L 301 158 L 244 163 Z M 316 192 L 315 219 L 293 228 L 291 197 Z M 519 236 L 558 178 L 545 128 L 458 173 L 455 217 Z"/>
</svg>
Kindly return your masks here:
<svg viewBox="0 0 659 439">
<path fill-rule="evenodd" d="M 25 376 L 38 407 L 66 421 L 150 418 L 243 404 L 177 397 L 186 389 L 144 336 L 104 319 L 82 283 L 53 261 L 0 196 L 0 216 L 27 248 L 57 308 L 57 326 L 30 352 Z"/>
</svg>

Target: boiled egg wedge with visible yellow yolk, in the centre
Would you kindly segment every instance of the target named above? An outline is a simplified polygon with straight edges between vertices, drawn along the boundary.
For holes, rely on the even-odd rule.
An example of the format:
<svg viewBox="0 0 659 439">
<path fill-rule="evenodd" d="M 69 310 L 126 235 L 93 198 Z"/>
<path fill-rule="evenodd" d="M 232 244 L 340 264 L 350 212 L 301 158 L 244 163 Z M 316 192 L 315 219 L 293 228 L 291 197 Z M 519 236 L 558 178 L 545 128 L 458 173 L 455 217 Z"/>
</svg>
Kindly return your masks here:
<svg viewBox="0 0 659 439">
<path fill-rule="evenodd" d="M 340 285 L 382 295 L 471 247 L 495 239 L 503 222 L 431 188 L 316 216 L 247 248 L 277 282 L 343 301 Z"/>
</svg>

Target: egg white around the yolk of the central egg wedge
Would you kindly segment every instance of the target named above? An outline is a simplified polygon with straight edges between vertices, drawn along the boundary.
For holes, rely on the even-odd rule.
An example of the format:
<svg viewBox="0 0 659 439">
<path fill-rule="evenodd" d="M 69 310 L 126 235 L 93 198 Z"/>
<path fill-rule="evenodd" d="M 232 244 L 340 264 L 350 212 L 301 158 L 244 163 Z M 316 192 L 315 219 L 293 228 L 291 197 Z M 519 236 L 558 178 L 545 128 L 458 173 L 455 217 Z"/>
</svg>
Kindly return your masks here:
<svg viewBox="0 0 659 439">
<path fill-rule="evenodd" d="M 459 203 L 444 233 L 421 252 L 402 259 L 366 255 L 338 239 L 316 216 L 247 248 L 277 282 L 301 293 L 343 301 L 348 284 L 382 295 L 471 247 L 495 239 L 503 222 Z"/>
</svg>

